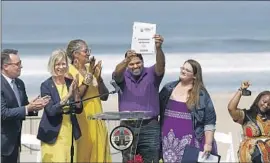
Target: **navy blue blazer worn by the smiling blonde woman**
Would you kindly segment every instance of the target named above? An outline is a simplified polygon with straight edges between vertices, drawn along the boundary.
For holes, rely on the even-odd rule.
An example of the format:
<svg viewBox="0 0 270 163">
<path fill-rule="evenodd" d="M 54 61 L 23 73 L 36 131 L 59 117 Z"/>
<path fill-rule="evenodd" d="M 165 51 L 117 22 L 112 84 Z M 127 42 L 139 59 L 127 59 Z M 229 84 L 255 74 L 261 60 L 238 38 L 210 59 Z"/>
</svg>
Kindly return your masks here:
<svg viewBox="0 0 270 163">
<path fill-rule="evenodd" d="M 67 89 L 69 90 L 69 86 L 72 83 L 72 79 L 65 78 Z M 54 144 L 57 136 L 59 134 L 62 120 L 63 120 L 63 110 L 60 105 L 60 97 L 56 88 L 55 83 L 53 82 L 52 77 L 47 79 L 41 84 L 41 96 L 49 95 L 51 96 L 50 102 L 45 106 L 44 112 L 39 123 L 38 135 L 37 138 L 42 142 L 48 144 Z M 74 98 L 69 99 L 70 102 L 74 101 Z M 81 107 L 76 108 L 76 114 L 82 113 L 82 103 Z M 71 122 L 73 124 L 73 135 L 77 140 L 81 137 L 81 130 L 77 121 L 76 116 L 71 118 Z"/>
</svg>

